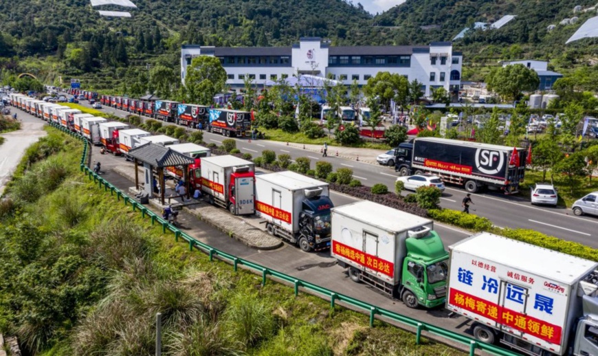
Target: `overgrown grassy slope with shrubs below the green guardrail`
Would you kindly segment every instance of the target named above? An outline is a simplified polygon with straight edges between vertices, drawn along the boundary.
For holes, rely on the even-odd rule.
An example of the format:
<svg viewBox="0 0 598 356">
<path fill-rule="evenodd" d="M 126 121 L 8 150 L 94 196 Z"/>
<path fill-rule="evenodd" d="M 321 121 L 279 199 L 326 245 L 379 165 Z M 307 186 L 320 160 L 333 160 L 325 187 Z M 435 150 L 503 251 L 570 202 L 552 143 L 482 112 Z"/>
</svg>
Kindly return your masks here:
<svg viewBox="0 0 598 356">
<path fill-rule="evenodd" d="M 74 144 L 49 129 L 0 210 L 0 332 L 25 353 L 151 355 L 159 311 L 168 355 L 465 355 L 210 263 L 82 175 Z M 23 197 L 41 173 L 52 184 Z"/>
</svg>

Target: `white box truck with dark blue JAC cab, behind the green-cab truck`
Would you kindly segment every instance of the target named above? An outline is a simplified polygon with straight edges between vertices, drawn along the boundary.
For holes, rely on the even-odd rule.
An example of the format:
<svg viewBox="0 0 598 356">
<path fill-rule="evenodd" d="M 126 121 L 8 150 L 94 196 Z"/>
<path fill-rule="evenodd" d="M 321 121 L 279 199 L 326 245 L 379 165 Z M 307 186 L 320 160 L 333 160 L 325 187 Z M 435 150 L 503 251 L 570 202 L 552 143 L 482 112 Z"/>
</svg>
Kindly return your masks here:
<svg viewBox="0 0 598 356">
<path fill-rule="evenodd" d="M 330 247 L 333 206 L 323 181 L 289 170 L 256 176 L 256 214 L 265 219 L 267 232 L 305 252 Z"/>
</svg>

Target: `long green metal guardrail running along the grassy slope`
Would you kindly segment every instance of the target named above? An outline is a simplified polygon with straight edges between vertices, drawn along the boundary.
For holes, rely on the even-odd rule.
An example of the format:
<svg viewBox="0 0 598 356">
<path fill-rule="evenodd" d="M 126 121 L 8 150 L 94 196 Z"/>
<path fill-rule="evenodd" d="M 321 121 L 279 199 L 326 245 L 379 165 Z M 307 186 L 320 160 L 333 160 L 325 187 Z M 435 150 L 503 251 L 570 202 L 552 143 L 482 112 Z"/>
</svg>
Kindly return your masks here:
<svg viewBox="0 0 598 356">
<path fill-rule="evenodd" d="M 344 294 L 337 293 L 335 291 L 331 291 L 330 289 L 321 287 L 319 285 L 315 285 L 311 282 L 306 282 L 304 280 L 300 280 L 293 276 L 283 274 L 282 272 L 276 271 L 275 269 L 269 269 L 267 267 L 259 265 L 258 263 L 253 263 L 249 260 L 239 258 L 232 254 L 228 254 L 227 252 L 223 252 L 219 249 L 216 249 L 206 243 L 197 241 L 192 236 L 189 236 L 185 232 L 181 232 L 181 230 L 179 230 L 177 227 L 168 223 L 168 221 L 163 219 L 162 216 L 159 216 L 155 212 L 149 210 L 148 208 L 144 207 L 142 204 L 138 203 L 135 199 L 124 194 L 124 192 L 122 192 L 121 190 L 119 190 L 118 188 L 113 186 L 106 179 L 100 177 L 99 175 L 96 175 L 96 173 L 94 173 L 93 170 L 91 170 L 85 164 L 85 159 L 87 158 L 87 153 L 89 151 L 88 150 L 89 144 L 88 144 L 87 140 L 85 139 L 85 137 L 82 137 L 78 133 L 74 133 L 63 126 L 58 126 L 58 124 L 51 123 L 51 125 L 53 127 L 55 127 L 56 129 L 60 129 L 61 131 L 65 132 L 73 137 L 76 137 L 79 140 L 82 140 L 84 146 L 83 146 L 83 155 L 81 157 L 80 168 L 81 168 L 81 171 L 87 177 L 89 177 L 90 180 L 93 179 L 94 183 L 98 183 L 98 188 L 102 188 L 102 186 L 103 186 L 104 191 L 105 192 L 109 191 L 111 196 L 116 196 L 117 201 L 120 201 L 122 199 L 122 201 L 124 201 L 124 205 L 131 204 L 131 208 L 133 208 L 133 211 L 135 212 L 135 211 L 139 210 L 141 212 L 143 218 L 148 216 L 151 219 L 152 225 L 155 225 L 155 223 L 159 223 L 162 226 L 162 232 L 166 233 L 166 230 L 170 230 L 170 232 L 173 232 L 173 234 L 175 234 L 175 240 L 177 242 L 179 241 L 179 238 L 183 238 L 189 244 L 190 251 L 193 251 L 193 248 L 196 247 L 197 249 L 200 249 L 202 252 L 205 252 L 206 254 L 208 254 L 210 261 L 214 260 L 214 256 L 218 256 L 222 260 L 228 260 L 230 263 L 232 263 L 234 271 L 238 270 L 239 265 L 243 265 L 243 266 L 247 267 L 248 269 L 251 269 L 252 271 L 256 271 L 256 272 L 258 272 L 258 274 L 262 275 L 262 285 L 264 285 L 264 286 L 266 285 L 268 276 L 272 276 L 274 278 L 277 278 L 278 280 L 283 280 L 285 282 L 289 282 L 292 285 L 294 285 L 295 296 L 298 296 L 300 287 L 307 289 L 309 291 L 314 291 L 316 293 L 319 293 L 321 296 L 326 296 L 326 297 L 330 298 L 330 306 L 332 308 L 335 306 L 336 302 L 343 302 L 343 303 L 346 303 L 353 307 L 362 309 L 363 311 L 366 311 L 370 315 L 370 327 L 374 326 L 374 320 L 376 318 L 376 315 L 379 315 L 384 318 L 388 318 L 395 322 L 400 322 L 401 324 L 412 326 L 412 327 L 416 328 L 416 330 L 417 330 L 416 335 L 415 335 L 415 342 L 418 345 L 421 342 L 421 332 L 428 331 L 429 333 L 433 333 L 435 335 L 445 337 L 448 340 L 452 340 L 452 341 L 458 342 L 460 344 L 468 345 L 470 356 L 473 356 L 475 354 L 476 349 L 482 350 L 482 351 L 487 351 L 489 353 L 493 353 L 495 355 L 500 355 L 500 356 L 519 355 L 518 353 L 513 353 L 511 351 L 505 350 L 504 348 L 500 348 L 495 345 L 479 342 L 478 340 L 472 339 L 471 337 L 467 337 L 465 335 L 461 335 L 459 333 L 455 333 L 454 331 L 443 329 L 439 326 L 428 324 L 426 322 L 421 322 L 417 319 L 410 318 L 408 316 L 401 315 L 399 313 L 395 313 L 394 311 L 389 311 L 387 309 L 382 309 L 382 308 L 376 307 L 373 304 L 369 304 L 367 302 L 363 302 L 362 300 L 358 300 L 358 299 L 355 299 L 355 298 L 352 298 L 349 296 L 345 296 Z"/>
</svg>

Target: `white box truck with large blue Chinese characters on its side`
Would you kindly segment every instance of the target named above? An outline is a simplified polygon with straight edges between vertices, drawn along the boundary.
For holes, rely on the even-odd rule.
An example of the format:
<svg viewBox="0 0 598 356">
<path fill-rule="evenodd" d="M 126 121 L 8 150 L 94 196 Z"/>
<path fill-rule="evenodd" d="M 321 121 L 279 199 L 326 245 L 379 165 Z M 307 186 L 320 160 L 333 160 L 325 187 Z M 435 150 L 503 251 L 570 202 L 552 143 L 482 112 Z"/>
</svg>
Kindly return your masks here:
<svg viewBox="0 0 598 356">
<path fill-rule="evenodd" d="M 449 246 L 446 308 L 527 355 L 598 355 L 598 263 L 483 232 Z"/>
</svg>

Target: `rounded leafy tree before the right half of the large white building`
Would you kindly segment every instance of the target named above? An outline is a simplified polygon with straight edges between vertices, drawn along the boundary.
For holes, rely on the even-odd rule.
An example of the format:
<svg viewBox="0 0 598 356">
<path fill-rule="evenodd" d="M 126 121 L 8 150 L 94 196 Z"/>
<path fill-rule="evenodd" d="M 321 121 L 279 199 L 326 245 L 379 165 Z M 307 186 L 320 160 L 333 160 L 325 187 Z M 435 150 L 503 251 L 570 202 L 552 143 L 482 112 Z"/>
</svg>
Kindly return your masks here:
<svg viewBox="0 0 598 356">
<path fill-rule="evenodd" d="M 399 74 L 390 74 L 388 71 L 379 71 L 375 77 L 368 79 L 364 86 L 366 96 L 377 96 L 383 107 L 390 107 L 390 100 L 405 100 L 409 93 L 407 78 Z"/>
</svg>

